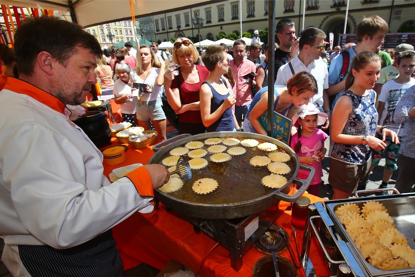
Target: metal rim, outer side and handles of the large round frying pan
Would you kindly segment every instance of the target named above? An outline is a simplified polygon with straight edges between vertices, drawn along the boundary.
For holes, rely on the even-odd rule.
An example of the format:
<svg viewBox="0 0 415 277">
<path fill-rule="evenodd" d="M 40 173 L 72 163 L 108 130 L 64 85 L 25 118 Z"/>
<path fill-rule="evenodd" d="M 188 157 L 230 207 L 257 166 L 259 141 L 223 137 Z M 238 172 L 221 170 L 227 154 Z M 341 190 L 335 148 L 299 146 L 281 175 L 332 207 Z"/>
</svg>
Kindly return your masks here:
<svg viewBox="0 0 415 277">
<path fill-rule="evenodd" d="M 287 153 L 291 157 L 291 167 L 292 171 L 289 176 L 286 176 L 287 183 L 280 189 L 269 189 L 269 192 L 264 196 L 255 197 L 251 199 L 238 201 L 238 199 L 233 200 L 231 203 L 199 203 L 195 201 L 187 201 L 174 197 L 171 194 L 166 194 L 160 191 L 155 191 L 155 196 L 161 202 L 163 202 L 167 207 L 175 210 L 183 215 L 193 217 L 193 218 L 205 218 L 205 219 L 231 219 L 231 218 L 242 218 L 249 215 L 253 215 L 264 211 L 265 209 L 277 204 L 280 200 L 287 202 L 295 202 L 308 188 L 311 178 L 314 175 L 314 168 L 306 165 L 302 165 L 298 161 L 298 157 L 295 152 L 283 142 L 273 139 L 270 137 L 252 134 L 252 133 L 243 133 L 243 132 L 213 132 L 199 134 L 191 137 L 185 137 L 177 141 L 167 144 L 163 148 L 159 148 L 159 145 L 153 147 L 156 153 L 151 157 L 149 163 L 161 163 L 162 159 L 166 154 L 170 152 L 173 148 L 184 146 L 189 141 L 194 140 L 205 140 L 209 138 L 224 138 L 224 137 L 238 137 L 242 139 L 260 139 L 267 142 L 272 142 L 276 144 L 283 152 Z M 264 152 L 263 152 L 264 153 Z M 266 155 L 265 153 L 263 155 Z M 234 158 L 236 159 L 236 158 Z M 228 161 L 228 163 L 234 162 L 233 160 Z M 311 172 L 309 178 L 306 180 L 298 179 L 297 173 L 299 168 Z M 238 170 L 233 169 L 233 170 Z M 228 173 L 229 170 L 226 172 Z M 253 169 L 252 172 L 255 172 L 256 169 Z M 269 173 L 268 173 L 269 174 Z M 257 176 L 256 176 L 257 178 Z M 259 178 L 259 180 L 261 180 Z M 192 181 L 195 181 L 192 179 Z M 240 184 L 241 189 L 244 189 L 245 180 Z M 301 188 L 294 195 L 289 194 L 292 188 L 292 183 L 301 185 Z M 258 186 L 264 187 L 261 183 Z M 246 195 L 252 194 L 252 191 L 246 191 Z M 204 198 L 205 196 L 198 196 L 199 198 Z"/>
</svg>

